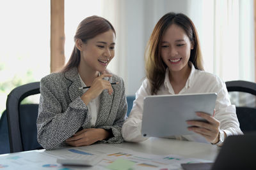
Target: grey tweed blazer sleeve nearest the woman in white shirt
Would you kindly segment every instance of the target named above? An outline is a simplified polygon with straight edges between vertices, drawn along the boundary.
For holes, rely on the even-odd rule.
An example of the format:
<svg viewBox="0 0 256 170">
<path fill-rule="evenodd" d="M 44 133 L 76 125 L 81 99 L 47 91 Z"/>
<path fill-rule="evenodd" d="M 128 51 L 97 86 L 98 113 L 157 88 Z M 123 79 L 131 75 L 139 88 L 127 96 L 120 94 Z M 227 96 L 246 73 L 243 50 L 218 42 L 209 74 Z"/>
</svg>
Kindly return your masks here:
<svg viewBox="0 0 256 170">
<path fill-rule="evenodd" d="M 121 79 L 122 82 L 122 94 L 120 96 L 120 103 L 118 106 L 118 111 L 116 113 L 116 118 L 111 126 L 102 126 L 99 128 L 111 130 L 113 137 L 107 140 L 102 140 L 102 143 L 122 143 L 124 141 L 122 137 L 122 125 L 124 124 L 125 115 L 127 113 L 127 101 L 125 96 L 125 88 L 124 88 L 124 80 Z"/>
</svg>

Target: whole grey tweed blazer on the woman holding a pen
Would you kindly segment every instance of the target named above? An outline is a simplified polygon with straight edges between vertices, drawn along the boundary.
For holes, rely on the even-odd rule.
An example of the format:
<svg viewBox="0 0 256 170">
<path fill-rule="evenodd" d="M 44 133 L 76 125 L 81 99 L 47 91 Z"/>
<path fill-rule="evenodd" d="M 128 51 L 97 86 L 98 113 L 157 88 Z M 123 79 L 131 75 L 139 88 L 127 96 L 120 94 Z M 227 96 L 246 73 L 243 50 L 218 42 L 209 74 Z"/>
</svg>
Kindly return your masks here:
<svg viewBox="0 0 256 170">
<path fill-rule="evenodd" d="M 110 82 L 113 93 L 103 90 L 100 94 L 100 108 L 95 128 L 111 130 L 113 138 L 104 143 L 121 143 L 123 141 L 121 128 L 127 112 L 124 81 L 113 74 Z M 65 73 L 52 73 L 40 81 L 40 104 L 37 118 L 38 143 L 45 149 L 67 146 L 65 140 L 79 129 L 92 127 L 92 117 L 83 103 L 81 81 L 74 67 Z"/>
</svg>

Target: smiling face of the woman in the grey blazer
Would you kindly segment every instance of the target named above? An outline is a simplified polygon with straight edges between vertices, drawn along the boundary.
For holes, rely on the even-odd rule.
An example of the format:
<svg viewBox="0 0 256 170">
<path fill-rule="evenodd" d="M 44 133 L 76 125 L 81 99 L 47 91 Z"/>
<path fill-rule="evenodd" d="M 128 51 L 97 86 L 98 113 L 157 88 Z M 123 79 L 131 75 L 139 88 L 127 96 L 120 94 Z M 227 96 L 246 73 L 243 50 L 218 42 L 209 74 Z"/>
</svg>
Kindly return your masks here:
<svg viewBox="0 0 256 170">
<path fill-rule="evenodd" d="M 76 46 L 81 52 L 79 66 L 102 73 L 115 56 L 115 33 L 110 29 L 88 39 L 86 43 L 77 39 Z"/>
</svg>

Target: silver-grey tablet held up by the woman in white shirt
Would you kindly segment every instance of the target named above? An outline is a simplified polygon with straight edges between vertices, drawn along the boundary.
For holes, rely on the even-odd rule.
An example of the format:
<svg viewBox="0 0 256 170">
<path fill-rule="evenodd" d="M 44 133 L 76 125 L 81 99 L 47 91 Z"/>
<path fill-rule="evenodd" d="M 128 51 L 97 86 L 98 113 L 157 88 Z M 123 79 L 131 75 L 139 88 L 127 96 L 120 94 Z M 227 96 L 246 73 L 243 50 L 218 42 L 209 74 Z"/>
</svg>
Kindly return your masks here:
<svg viewBox="0 0 256 170">
<path fill-rule="evenodd" d="M 144 98 L 141 134 L 146 137 L 170 137 L 195 134 L 188 131 L 187 120 L 203 120 L 196 111 L 212 115 L 216 93 L 147 96 Z"/>
</svg>

